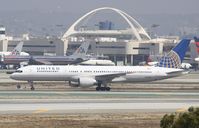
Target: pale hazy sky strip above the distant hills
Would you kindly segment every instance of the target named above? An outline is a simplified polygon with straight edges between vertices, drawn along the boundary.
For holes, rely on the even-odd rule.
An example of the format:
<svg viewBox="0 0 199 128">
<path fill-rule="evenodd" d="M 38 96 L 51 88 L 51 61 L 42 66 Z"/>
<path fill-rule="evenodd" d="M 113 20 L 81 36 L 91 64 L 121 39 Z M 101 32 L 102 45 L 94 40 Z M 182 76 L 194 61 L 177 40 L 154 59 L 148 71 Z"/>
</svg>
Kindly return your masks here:
<svg viewBox="0 0 199 128">
<path fill-rule="evenodd" d="M 199 0 L 0 0 L 0 11 L 86 13 L 110 6 L 135 14 L 199 13 Z"/>
</svg>

